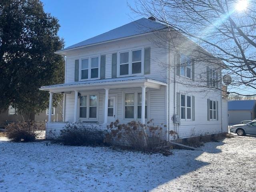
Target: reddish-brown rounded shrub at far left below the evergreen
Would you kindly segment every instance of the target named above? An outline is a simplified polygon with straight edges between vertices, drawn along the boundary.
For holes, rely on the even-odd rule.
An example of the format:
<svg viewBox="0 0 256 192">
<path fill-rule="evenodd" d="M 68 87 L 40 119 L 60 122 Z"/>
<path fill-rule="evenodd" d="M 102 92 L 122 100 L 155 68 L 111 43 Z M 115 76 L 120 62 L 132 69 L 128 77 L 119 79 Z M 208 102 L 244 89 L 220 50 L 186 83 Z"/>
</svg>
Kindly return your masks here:
<svg viewBox="0 0 256 192">
<path fill-rule="evenodd" d="M 34 121 L 11 123 L 6 126 L 6 129 L 6 136 L 15 142 L 35 141 L 39 134 L 38 130 L 42 130 Z"/>
</svg>

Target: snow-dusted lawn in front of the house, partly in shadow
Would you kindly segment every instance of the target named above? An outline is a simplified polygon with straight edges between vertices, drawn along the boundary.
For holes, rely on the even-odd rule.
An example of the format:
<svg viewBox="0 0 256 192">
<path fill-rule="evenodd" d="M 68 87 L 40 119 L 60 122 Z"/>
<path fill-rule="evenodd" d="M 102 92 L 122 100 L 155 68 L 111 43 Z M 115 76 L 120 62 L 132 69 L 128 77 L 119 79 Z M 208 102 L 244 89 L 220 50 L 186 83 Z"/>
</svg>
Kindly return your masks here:
<svg viewBox="0 0 256 192">
<path fill-rule="evenodd" d="M 0 138 L 0 191 L 256 191 L 256 138 L 226 138 L 174 155 Z"/>
</svg>

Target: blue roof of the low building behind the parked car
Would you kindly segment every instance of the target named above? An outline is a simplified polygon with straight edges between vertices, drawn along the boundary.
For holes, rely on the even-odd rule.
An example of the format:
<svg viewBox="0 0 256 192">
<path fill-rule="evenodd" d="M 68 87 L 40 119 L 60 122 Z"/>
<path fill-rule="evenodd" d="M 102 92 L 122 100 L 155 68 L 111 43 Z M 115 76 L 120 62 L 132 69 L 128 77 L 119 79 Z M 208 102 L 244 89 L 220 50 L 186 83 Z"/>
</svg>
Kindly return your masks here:
<svg viewBox="0 0 256 192">
<path fill-rule="evenodd" d="M 252 110 L 255 100 L 228 101 L 228 110 Z"/>
</svg>

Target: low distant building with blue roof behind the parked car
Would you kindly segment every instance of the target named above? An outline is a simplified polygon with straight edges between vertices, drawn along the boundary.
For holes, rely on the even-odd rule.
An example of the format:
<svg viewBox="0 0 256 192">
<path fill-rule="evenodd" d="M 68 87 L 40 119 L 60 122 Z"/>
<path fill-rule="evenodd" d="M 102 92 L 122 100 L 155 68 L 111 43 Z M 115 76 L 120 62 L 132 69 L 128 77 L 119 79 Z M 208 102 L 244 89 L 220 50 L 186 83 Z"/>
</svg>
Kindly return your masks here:
<svg viewBox="0 0 256 192">
<path fill-rule="evenodd" d="M 228 124 L 240 124 L 256 118 L 255 100 L 228 101 Z"/>
</svg>

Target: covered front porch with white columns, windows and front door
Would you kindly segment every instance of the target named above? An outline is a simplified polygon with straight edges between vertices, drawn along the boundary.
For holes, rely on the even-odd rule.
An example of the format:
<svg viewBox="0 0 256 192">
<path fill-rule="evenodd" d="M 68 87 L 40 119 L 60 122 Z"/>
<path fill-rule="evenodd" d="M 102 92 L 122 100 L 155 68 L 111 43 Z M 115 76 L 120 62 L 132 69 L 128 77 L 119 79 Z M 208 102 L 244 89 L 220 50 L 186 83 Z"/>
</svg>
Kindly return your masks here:
<svg viewBox="0 0 256 192">
<path fill-rule="evenodd" d="M 50 94 L 49 110 L 52 108 L 53 94 L 64 94 L 64 122 L 52 122 L 49 116 L 46 133 L 58 132 L 66 123 L 75 122 L 101 129 L 106 129 L 110 122 L 117 119 L 123 123 L 138 120 L 144 124 L 158 115 L 151 112 L 154 104 L 166 107 L 166 83 L 140 76 L 43 86 L 40 90 Z"/>
</svg>

